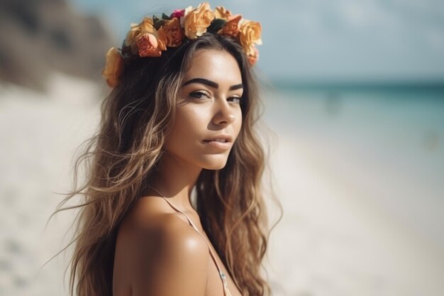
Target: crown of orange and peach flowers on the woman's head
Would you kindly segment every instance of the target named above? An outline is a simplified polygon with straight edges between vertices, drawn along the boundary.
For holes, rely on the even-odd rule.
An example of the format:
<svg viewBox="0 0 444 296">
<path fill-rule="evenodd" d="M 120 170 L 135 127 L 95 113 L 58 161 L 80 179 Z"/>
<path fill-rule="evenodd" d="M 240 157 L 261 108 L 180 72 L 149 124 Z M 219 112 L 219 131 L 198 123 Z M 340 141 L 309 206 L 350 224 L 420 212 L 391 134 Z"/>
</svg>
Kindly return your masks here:
<svg viewBox="0 0 444 296">
<path fill-rule="evenodd" d="M 141 23 L 131 23 L 121 49 L 111 48 L 106 53 L 102 75 L 110 87 L 116 87 L 123 70 L 123 60 L 134 57 L 160 57 L 167 48 L 176 48 L 185 38 L 196 39 L 204 33 L 216 33 L 234 38 L 254 65 L 259 57 L 255 45 L 262 44 L 260 23 L 248 21 L 240 14 L 218 6 L 214 11 L 208 2 L 186 9 L 176 9 L 170 16 L 145 17 Z"/>
</svg>

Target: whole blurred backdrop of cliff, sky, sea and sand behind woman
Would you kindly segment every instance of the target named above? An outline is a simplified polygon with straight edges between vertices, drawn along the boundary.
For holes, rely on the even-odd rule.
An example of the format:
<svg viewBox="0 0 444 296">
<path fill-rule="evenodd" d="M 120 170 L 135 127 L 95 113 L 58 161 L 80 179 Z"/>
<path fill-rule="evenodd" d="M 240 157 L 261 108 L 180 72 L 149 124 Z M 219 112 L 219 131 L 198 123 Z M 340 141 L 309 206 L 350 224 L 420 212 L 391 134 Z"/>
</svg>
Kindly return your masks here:
<svg viewBox="0 0 444 296">
<path fill-rule="evenodd" d="M 106 50 L 198 4 L 0 0 L 0 295 L 68 295 L 69 251 L 44 263 L 74 213 L 45 223 L 96 130 Z M 444 2 L 210 4 L 262 23 L 274 295 L 444 295 Z"/>
</svg>

